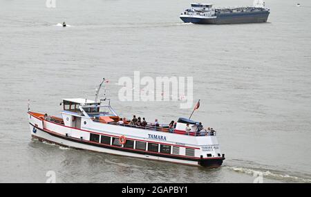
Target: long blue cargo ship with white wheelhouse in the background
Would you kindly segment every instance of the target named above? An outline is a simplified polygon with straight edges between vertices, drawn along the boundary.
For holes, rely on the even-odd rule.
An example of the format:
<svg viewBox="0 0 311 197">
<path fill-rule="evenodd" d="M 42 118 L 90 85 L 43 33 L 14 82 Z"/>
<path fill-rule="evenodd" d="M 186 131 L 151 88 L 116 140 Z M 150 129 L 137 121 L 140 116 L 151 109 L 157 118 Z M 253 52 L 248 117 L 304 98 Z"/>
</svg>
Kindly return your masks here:
<svg viewBox="0 0 311 197">
<path fill-rule="evenodd" d="M 214 8 L 209 3 L 192 3 L 180 14 L 180 19 L 192 24 L 247 24 L 265 23 L 270 15 L 270 9 L 265 8 L 265 2 L 255 0 L 251 7 Z"/>
</svg>

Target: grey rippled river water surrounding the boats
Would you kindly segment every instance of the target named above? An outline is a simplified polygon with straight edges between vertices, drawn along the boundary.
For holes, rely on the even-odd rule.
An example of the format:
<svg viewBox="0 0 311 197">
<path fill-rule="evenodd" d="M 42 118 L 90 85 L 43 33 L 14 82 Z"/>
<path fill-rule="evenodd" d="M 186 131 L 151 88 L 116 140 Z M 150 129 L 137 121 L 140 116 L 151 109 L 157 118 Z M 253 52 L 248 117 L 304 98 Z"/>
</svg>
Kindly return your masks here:
<svg viewBox="0 0 311 197">
<path fill-rule="evenodd" d="M 247 6 L 249 0 L 210 1 Z M 178 18 L 189 0 L 0 0 L 0 182 L 311 182 L 311 1 L 267 1 L 265 24 Z M 60 24 L 66 21 L 68 27 Z M 118 79 L 194 77 L 194 120 L 218 131 L 218 169 L 112 156 L 32 140 L 32 111 L 93 99 L 102 77 L 122 116 L 170 122 L 180 102 L 120 102 Z M 102 93 L 103 94 L 103 93 Z M 102 95 L 101 94 L 101 95 Z"/>
</svg>

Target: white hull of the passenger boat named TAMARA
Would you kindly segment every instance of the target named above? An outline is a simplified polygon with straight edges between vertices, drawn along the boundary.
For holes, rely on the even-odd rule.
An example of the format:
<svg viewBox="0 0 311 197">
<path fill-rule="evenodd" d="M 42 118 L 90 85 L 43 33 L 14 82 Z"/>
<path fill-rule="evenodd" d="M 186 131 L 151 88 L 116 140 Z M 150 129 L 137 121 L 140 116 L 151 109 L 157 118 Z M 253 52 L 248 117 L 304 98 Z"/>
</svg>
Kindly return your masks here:
<svg viewBox="0 0 311 197">
<path fill-rule="evenodd" d="M 67 118 L 66 118 L 67 119 Z M 69 120 L 70 121 L 70 120 Z M 224 156 L 220 156 L 220 149 L 218 145 L 210 145 L 209 147 L 212 150 L 203 150 L 206 146 L 198 146 L 194 145 L 194 142 L 200 140 L 200 143 L 211 143 L 218 144 L 216 140 L 216 136 L 203 136 L 203 137 L 194 137 L 189 135 L 178 135 L 167 132 L 158 132 L 158 131 L 146 131 L 142 129 L 135 129 L 126 126 L 116 126 L 111 124 L 102 124 L 102 123 L 93 123 L 92 120 L 84 119 L 82 120 L 84 125 L 88 126 L 89 124 L 93 124 L 91 126 L 97 127 L 99 129 L 85 130 L 86 128 L 77 129 L 70 126 L 65 126 L 64 124 L 58 124 L 56 122 L 50 122 L 48 120 L 44 120 L 43 116 L 39 113 L 29 113 L 29 124 L 30 124 L 30 132 L 32 138 L 37 138 L 41 141 L 46 141 L 54 144 L 59 144 L 64 147 L 72 147 L 75 149 L 85 149 L 89 151 L 97 151 L 102 153 L 111 153 L 120 156 L 129 156 L 135 158 L 147 158 L 150 160 L 161 160 L 167 162 L 176 162 L 184 165 L 200 165 L 203 167 L 220 167 L 222 165 L 223 160 L 225 160 Z M 100 129 L 100 126 L 102 129 Z M 109 129 L 113 132 L 110 132 Z M 137 134 L 135 136 L 130 135 L 130 133 L 134 133 L 137 130 Z M 131 131 L 131 132 L 130 132 Z M 167 144 L 169 146 L 179 147 L 180 153 L 173 153 L 173 149 L 171 149 L 171 153 L 161 153 L 149 150 L 141 150 L 141 149 L 133 149 L 126 148 L 124 146 L 115 146 L 113 144 L 103 144 L 100 142 L 95 142 L 90 139 L 91 133 L 93 135 L 108 135 L 113 138 L 120 138 L 121 135 L 124 135 L 128 140 L 135 140 L 147 142 L 147 143 L 158 143 L 158 144 Z M 153 133 L 161 133 L 163 135 L 164 140 L 162 138 L 148 138 L 148 136 L 153 136 Z M 141 136 L 140 136 L 141 135 Z M 159 134 L 157 135 L 159 136 Z M 134 138 L 135 137 L 135 138 Z M 188 142 L 191 144 L 180 144 L 177 142 L 171 142 L 170 140 L 183 140 L 189 139 Z M 159 146 L 160 147 L 160 146 Z M 193 156 L 187 156 L 185 154 L 185 150 L 192 149 L 194 151 Z M 217 156 L 206 157 L 207 153 L 213 153 Z M 203 157 L 205 155 L 205 158 Z"/>
</svg>

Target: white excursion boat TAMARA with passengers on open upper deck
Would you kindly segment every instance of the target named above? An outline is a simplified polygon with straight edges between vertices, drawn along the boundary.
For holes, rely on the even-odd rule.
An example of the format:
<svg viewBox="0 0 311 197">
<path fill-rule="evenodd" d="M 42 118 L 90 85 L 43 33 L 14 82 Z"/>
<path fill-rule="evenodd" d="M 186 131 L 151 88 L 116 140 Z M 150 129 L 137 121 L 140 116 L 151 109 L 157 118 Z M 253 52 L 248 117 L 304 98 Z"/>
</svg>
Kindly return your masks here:
<svg viewBox="0 0 311 197">
<path fill-rule="evenodd" d="M 225 154 L 213 129 L 198 133 L 198 122 L 187 118 L 179 118 L 171 129 L 167 124 L 135 126 L 125 120 L 122 124 L 109 99 L 97 100 L 100 88 L 95 100 L 64 99 L 61 118 L 30 111 L 28 106 L 32 138 L 120 156 L 202 167 L 222 165 Z M 187 124 L 191 131 L 186 132 Z"/>
</svg>

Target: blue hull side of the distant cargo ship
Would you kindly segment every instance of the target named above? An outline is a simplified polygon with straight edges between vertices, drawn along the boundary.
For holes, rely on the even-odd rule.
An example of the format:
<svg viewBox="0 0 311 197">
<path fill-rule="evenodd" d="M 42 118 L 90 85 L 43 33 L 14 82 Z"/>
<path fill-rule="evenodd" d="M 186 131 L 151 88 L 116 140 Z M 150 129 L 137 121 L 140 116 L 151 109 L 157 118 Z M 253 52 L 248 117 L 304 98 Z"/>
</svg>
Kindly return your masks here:
<svg viewBox="0 0 311 197">
<path fill-rule="evenodd" d="M 193 24 L 246 24 L 246 23 L 265 23 L 270 12 L 239 12 L 220 14 L 216 19 L 201 19 L 196 17 L 180 17 L 185 23 Z"/>
</svg>

